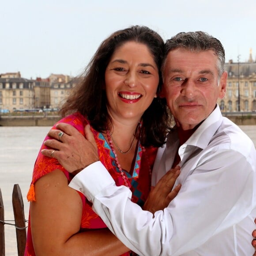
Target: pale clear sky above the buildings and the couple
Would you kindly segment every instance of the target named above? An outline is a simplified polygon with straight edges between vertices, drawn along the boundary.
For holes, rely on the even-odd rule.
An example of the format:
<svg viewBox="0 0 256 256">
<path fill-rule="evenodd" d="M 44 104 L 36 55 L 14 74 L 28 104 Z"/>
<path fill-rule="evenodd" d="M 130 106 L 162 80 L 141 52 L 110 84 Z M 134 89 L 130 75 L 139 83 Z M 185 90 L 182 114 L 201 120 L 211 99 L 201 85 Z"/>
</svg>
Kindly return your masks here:
<svg viewBox="0 0 256 256">
<path fill-rule="evenodd" d="M 79 75 L 113 31 L 146 25 L 164 40 L 203 30 L 224 45 L 226 60 L 256 58 L 255 0 L 2 0 L 0 73 L 24 78 Z"/>
</svg>

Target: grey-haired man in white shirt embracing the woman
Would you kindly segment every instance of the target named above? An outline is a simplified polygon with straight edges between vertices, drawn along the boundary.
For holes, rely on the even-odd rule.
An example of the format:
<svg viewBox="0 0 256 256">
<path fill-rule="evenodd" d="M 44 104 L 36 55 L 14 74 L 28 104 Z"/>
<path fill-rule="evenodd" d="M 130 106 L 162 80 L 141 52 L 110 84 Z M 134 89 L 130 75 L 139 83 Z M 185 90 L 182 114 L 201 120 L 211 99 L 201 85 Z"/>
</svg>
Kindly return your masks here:
<svg viewBox="0 0 256 256">
<path fill-rule="evenodd" d="M 166 42 L 165 52 L 163 96 L 176 126 L 159 151 L 153 180 L 178 164 L 179 194 L 152 215 L 129 200 L 129 189 L 117 187 L 100 162 L 70 186 L 83 192 L 109 229 L 139 255 L 252 255 L 256 150 L 217 105 L 226 93 L 222 44 L 203 32 L 179 33 Z"/>
</svg>

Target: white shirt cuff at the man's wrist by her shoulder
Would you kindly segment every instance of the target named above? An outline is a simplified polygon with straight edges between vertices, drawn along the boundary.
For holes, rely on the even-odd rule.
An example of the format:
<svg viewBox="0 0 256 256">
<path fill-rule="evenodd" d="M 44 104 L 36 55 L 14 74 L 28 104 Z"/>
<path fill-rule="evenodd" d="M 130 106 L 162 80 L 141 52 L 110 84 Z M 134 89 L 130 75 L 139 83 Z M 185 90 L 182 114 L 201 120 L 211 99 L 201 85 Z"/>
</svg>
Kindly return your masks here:
<svg viewBox="0 0 256 256">
<path fill-rule="evenodd" d="M 76 174 L 68 186 L 80 191 L 89 201 L 92 201 L 102 189 L 113 184 L 115 184 L 115 181 L 108 170 L 102 162 L 98 161 Z"/>
</svg>

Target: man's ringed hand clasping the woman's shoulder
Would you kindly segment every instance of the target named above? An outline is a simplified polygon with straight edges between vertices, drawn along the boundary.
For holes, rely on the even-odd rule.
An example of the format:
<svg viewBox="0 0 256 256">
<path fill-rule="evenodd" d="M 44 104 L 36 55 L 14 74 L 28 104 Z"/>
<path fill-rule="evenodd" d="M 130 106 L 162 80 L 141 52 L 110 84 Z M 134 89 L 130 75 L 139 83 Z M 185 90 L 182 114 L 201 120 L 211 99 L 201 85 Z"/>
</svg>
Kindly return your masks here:
<svg viewBox="0 0 256 256">
<path fill-rule="evenodd" d="M 98 161 L 98 148 L 89 125 L 84 129 L 85 137 L 70 124 L 60 123 L 56 128 L 48 133 L 53 139 L 44 142 L 52 149 L 43 149 L 43 155 L 56 158 L 72 174 Z"/>
</svg>

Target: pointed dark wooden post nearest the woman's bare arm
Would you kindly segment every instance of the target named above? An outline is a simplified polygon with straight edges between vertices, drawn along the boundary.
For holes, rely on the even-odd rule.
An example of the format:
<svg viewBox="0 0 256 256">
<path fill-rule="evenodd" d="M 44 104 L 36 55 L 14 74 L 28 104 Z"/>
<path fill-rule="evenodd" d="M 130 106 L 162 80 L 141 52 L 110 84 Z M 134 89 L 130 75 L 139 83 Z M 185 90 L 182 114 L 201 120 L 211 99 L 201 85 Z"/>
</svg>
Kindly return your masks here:
<svg viewBox="0 0 256 256">
<path fill-rule="evenodd" d="M 14 220 L 16 228 L 16 237 L 17 237 L 17 248 L 18 248 L 18 256 L 23 256 L 25 252 L 26 246 L 26 223 L 25 223 L 25 215 L 24 215 L 24 204 L 22 199 L 22 193 L 19 188 L 19 184 L 15 184 L 13 186 L 12 191 L 12 206 L 14 213 Z"/>
</svg>

